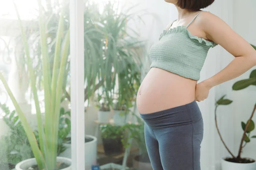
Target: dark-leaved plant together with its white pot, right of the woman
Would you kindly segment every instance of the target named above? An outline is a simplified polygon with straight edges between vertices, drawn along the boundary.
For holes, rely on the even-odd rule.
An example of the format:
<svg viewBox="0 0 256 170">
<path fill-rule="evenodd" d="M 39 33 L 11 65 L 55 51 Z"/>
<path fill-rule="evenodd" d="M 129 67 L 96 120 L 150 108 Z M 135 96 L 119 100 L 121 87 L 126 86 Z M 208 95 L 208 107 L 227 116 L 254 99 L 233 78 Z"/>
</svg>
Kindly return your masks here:
<svg viewBox="0 0 256 170">
<path fill-rule="evenodd" d="M 244 79 L 236 82 L 233 85 L 233 90 L 241 90 L 244 88 L 247 88 L 249 85 L 256 85 L 256 70 L 253 70 L 250 74 L 249 79 Z M 218 124 L 217 124 L 217 108 L 219 105 L 229 105 L 231 104 L 232 101 L 229 99 L 224 99 L 224 96 L 222 96 L 216 103 L 215 103 L 215 125 L 218 131 L 218 135 L 221 138 L 221 142 L 224 144 L 225 148 L 227 151 L 230 153 L 231 157 L 224 157 L 221 160 L 221 167 L 222 170 L 255 170 L 256 169 L 256 161 L 254 159 L 250 158 L 242 158 L 241 153 L 243 148 L 246 146 L 248 142 L 250 142 L 251 139 L 256 138 L 256 136 L 252 136 L 251 132 L 254 130 L 254 122 L 252 120 L 253 115 L 256 110 L 256 104 L 254 105 L 253 111 L 251 113 L 251 116 L 247 123 L 241 122 L 241 127 L 243 130 L 243 135 L 241 138 L 241 142 L 239 145 L 239 151 L 238 155 L 235 156 L 227 147 L 227 144 L 224 142 L 221 133 L 218 129 Z"/>
</svg>

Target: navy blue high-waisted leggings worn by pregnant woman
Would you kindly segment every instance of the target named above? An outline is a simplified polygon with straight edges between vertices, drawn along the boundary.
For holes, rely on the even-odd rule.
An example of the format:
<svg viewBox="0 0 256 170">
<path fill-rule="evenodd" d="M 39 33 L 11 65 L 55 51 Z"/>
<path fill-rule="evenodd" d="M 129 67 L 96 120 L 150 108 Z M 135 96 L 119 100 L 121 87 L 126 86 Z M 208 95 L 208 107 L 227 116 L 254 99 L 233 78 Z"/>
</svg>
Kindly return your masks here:
<svg viewBox="0 0 256 170">
<path fill-rule="evenodd" d="M 154 170 L 201 170 L 204 123 L 196 101 L 140 116 Z"/>
</svg>

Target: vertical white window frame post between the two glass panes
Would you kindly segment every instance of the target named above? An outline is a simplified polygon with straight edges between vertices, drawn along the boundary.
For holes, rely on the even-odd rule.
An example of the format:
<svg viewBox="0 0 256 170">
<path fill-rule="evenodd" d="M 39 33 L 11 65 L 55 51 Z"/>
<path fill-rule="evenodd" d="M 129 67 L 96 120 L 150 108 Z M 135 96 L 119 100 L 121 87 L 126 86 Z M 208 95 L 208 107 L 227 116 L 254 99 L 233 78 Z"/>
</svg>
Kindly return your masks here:
<svg viewBox="0 0 256 170">
<path fill-rule="evenodd" d="M 84 170 L 84 2 L 70 0 L 72 170 Z"/>
</svg>

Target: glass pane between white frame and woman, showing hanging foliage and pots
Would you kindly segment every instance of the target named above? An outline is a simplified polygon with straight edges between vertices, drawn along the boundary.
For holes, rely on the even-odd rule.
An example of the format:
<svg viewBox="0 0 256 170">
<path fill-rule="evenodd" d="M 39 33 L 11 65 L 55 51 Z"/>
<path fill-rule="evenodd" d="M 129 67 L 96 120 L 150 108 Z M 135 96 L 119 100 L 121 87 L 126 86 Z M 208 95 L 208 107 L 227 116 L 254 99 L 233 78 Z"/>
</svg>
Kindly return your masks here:
<svg viewBox="0 0 256 170">
<path fill-rule="evenodd" d="M 136 96 L 147 61 L 140 17 L 128 1 L 89 0 L 84 9 L 87 169 L 150 166 Z M 143 62 L 144 61 L 144 62 Z M 123 163 L 124 162 L 124 163 Z M 150 170 L 146 168 L 147 170 Z"/>
</svg>

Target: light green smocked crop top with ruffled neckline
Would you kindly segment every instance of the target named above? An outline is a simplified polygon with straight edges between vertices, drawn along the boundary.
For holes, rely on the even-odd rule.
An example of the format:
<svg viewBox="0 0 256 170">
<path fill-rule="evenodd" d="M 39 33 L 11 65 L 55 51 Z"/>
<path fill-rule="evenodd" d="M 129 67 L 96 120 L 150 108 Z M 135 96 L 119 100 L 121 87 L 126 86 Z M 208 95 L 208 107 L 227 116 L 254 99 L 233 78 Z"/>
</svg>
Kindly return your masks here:
<svg viewBox="0 0 256 170">
<path fill-rule="evenodd" d="M 192 35 L 187 29 L 192 21 L 187 26 L 163 30 L 159 41 L 149 50 L 152 60 L 150 68 L 157 67 L 182 77 L 200 79 L 200 72 L 209 48 L 218 44 Z"/>
</svg>

